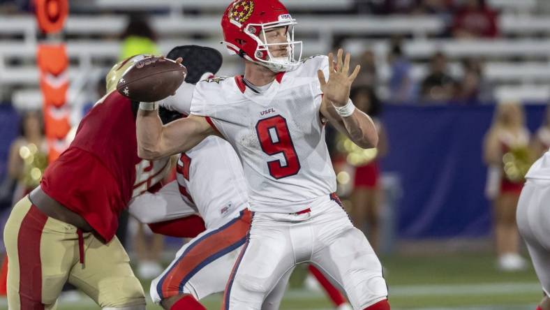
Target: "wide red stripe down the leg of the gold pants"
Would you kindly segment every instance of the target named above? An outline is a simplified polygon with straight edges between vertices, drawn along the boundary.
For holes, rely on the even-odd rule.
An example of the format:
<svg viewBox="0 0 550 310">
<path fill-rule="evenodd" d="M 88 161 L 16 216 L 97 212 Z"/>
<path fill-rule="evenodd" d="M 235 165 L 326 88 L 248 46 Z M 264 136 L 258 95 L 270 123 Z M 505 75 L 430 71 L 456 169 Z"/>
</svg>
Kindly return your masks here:
<svg viewBox="0 0 550 310">
<path fill-rule="evenodd" d="M 31 205 L 17 235 L 21 310 L 43 310 L 40 239 L 47 216 Z"/>
</svg>

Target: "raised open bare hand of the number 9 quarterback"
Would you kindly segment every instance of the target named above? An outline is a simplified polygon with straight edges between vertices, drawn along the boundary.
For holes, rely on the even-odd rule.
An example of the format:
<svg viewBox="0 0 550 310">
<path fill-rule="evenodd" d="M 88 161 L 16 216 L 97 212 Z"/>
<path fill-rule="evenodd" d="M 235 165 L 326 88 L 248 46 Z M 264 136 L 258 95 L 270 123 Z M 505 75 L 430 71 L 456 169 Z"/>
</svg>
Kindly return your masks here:
<svg viewBox="0 0 550 310">
<path fill-rule="evenodd" d="M 350 53 L 345 54 L 345 59 L 342 60 L 343 50 L 339 49 L 336 54 L 336 63 L 334 62 L 334 54 L 329 53 L 329 80 L 325 82 L 325 74 L 322 71 L 317 71 L 321 91 L 329 101 L 336 106 L 343 106 L 348 103 L 350 98 L 351 84 L 359 74 L 361 66 L 355 66 L 355 70 L 350 72 Z M 336 65 L 336 66 L 335 66 Z"/>
</svg>

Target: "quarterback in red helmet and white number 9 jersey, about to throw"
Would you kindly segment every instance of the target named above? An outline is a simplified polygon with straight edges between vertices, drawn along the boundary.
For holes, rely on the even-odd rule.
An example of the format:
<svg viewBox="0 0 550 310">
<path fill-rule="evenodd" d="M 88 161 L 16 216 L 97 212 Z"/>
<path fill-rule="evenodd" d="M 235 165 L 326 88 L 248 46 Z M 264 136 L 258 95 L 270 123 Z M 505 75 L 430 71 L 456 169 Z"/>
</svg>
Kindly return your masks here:
<svg viewBox="0 0 550 310">
<path fill-rule="evenodd" d="M 238 0 L 222 19 L 225 43 L 245 73 L 199 82 L 191 116 L 162 126 L 156 103 L 141 103 L 138 154 L 191 149 L 208 135 L 228 140 L 243 164 L 252 226 L 228 281 L 224 309 L 261 309 L 292 268 L 311 262 L 347 293 L 354 309 L 389 309 L 382 267 L 334 195 L 325 143 L 330 122 L 360 147 L 376 147 L 372 120 L 349 100 L 359 67 L 350 55 L 297 60 L 296 22 L 276 0 Z M 325 76 L 328 75 L 328 81 Z"/>
</svg>

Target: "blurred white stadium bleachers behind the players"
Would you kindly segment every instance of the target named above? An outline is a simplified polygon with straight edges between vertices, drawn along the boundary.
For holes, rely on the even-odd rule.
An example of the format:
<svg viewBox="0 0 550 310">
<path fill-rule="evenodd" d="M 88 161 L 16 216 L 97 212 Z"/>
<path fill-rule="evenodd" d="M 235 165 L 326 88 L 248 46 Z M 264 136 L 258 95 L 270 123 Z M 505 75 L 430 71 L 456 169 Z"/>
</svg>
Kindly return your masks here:
<svg viewBox="0 0 550 310">
<path fill-rule="evenodd" d="M 93 5 L 87 2 L 77 1 L 75 11 L 82 12 L 87 6 L 93 6 L 102 12 L 161 12 L 151 17 L 151 25 L 160 37 L 158 45 L 162 52 L 168 52 L 175 45 L 193 43 L 218 48 L 225 54 L 220 44 L 221 31 L 218 25 L 219 11 L 226 1 L 98 0 L 93 1 Z M 131 6 L 128 6 L 129 3 Z M 315 11 L 320 15 L 310 14 L 313 3 Z M 546 101 L 549 93 L 547 84 L 550 82 L 550 36 L 547 36 L 550 32 L 550 18 L 533 14 L 543 4 L 536 0 L 491 0 L 489 3 L 502 12 L 498 20 L 502 36 L 494 40 L 439 38 L 448 25 L 436 15 L 327 15 L 334 11 L 348 11 L 353 1 L 286 1 L 290 10 L 297 12 L 298 36 L 306 38 L 304 56 L 326 54 L 338 43 L 335 38 L 347 37 L 341 45 L 353 54 L 360 54 L 367 49 L 375 52 L 377 66 L 381 68 L 380 80 L 386 81 L 389 42 L 380 37 L 405 36 L 409 39 L 404 40 L 403 50 L 413 61 L 412 75 L 415 81 L 425 75 L 426 59 L 437 51 L 444 52 L 451 59 L 451 72 L 458 76 L 461 75 L 461 69 L 456 61 L 464 57 L 482 57 L 485 77 L 496 86 L 496 98 L 505 95 L 520 100 Z M 188 15 L 188 10 L 205 13 Z M 119 57 L 117 35 L 126 26 L 127 18 L 127 15 L 120 13 L 75 14 L 68 18 L 65 34 L 71 60 L 71 80 L 97 79 L 107 70 L 107 64 Z M 15 105 L 36 102 L 40 94 L 37 88 L 38 72 L 34 66 L 38 36 L 34 16 L 2 17 L 0 36 L 9 38 L 0 45 L 0 84 L 15 89 Z M 238 68 L 235 59 L 230 57 L 226 57 L 225 64 L 221 72 L 225 75 L 235 73 Z M 77 94 L 85 91 L 75 89 L 74 85 L 71 89 L 72 93 Z"/>
</svg>

